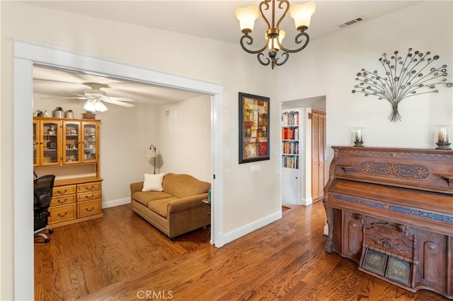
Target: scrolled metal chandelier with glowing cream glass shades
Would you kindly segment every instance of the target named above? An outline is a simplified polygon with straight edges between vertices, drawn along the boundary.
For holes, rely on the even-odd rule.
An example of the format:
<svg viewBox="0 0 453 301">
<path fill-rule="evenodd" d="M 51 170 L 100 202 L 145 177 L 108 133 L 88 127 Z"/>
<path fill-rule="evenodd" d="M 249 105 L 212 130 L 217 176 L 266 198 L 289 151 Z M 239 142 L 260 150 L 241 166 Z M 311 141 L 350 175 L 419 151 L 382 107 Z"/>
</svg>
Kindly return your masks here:
<svg viewBox="0 0 453 301">
<path fill-rule="evenodd" d="M 278 9 L 282 11 L 280 18 L 275 23 L 275 2 L 278 3 Z M 265 11 L 269 11 L 270 5 L 272 5 L 272 11 L 270 11 L 271 18 L 269 19 L 265 16 Z M 251 54 L 257 54 L 256 57 L 260 64 L 264 66 L 270 66 L 274 69 L 275 66 L 281 66 L 285 64 L 289 58 L 289 53 L 299 52 L 306 47 L 309 43 L 309 35 L 305 31 L 309 28 L 310 18 L 313 15 L 316 4 L 314 2 L 309 2 L 306 4 L 294 4 L 291 6 L 290 15 L 294 19 L 296 25 L 296 30 L 299 32 L 296 37 L 294 37 L 294 42 L 297 45 L 300 45 L 299 48 L 289 49 L 282 45 L 282 40 L 285 37 L 285 30 L 280 30 L 280 23 L 285 18 L 289 10 L 289 2 L 287 0 L 264 0 L 260 2 L 259 5 L 260 14 L 263 18 L 266 25 L 268 25 L 268 30 L 265 32 L 265 45 L 258 49 L 248 49 L 248 45 L 253 45 L 253 37 L 251 37 L 251 32 L 253 30 L 253 25 L 255 25 L 255 20 L 258 19 L 258 8 L 256 6 L 248 6 L 244 8 L 236 8 L 236 18 L 238 18 L 241 31 L 243 36 L 241 37 L 241 47 L 246 52 Z M 268 58 L 264 57 L 263 52 L 266 48 L 269 48 Z M 277 54 L 280 54 L 277 56 Z"/>
</svg>

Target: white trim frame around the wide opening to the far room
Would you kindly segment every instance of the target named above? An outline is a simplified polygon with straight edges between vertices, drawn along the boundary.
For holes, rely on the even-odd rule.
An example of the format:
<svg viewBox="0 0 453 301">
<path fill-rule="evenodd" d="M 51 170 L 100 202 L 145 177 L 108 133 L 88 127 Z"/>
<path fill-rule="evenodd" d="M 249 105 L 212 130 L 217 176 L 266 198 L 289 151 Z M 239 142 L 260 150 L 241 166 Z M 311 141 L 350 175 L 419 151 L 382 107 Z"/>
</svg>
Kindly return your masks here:
<svg viewBox="0 0 453 301">
<path fill-rule="evenodd" d="M 223 87 L 214 83 L 154 71 L 90 54 L 72 52 L 27 40 L 14 39 L 13 78 L 13 252 L 14 298 L 34 299 L 33 254 L 33 66 L 49 66 L 100 76 L 113 76 L 211 96 L 212 143 L 212 237 L 219 241 L 223 232 Z M 216 245 L 221 247 L 221 245 Z"/>
</svg>

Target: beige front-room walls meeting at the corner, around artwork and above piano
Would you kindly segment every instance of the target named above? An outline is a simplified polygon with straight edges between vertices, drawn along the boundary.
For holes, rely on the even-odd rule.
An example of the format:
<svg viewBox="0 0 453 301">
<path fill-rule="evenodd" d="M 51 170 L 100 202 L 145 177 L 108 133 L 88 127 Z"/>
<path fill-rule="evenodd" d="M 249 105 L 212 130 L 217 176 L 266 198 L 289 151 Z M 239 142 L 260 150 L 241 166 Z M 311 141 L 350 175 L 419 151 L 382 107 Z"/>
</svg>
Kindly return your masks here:
<svg viewBox="0 0 453 301">
<path fill-rule="evenodd" d="M 301 54 L 271 71 L 236 44 L 1 1 L 0 299 L 13 298 L 13 38 L 86 52 L 223 85 L 224 231 L 279 210 L 278 102 L 326 95 L 327 144 L 350 145 L 350 128 L 368 129 L 368 146 L 431 148 L 428 128 L 452 124 L 452 89 L 401 102 L 403 121 L 391 124 L 383 101 L 352 95 L 355 73 L 374 68 L 382 52 L 408 47 L 440 55 L 452 73 L 452 2 L 423 2 L 377 20 L 312 40 Z M 423 20 L 423 25 L 420 25 Z M 150 38 L 147 38 L 150 37 Z M 152 38 L 151 38 L 152 37 Z M 180 50 L 181 46 L 183 50 Z M 200 50 L 200 45 L 203 49 Z M 452 81 L 449 76 L 449 81 Z M 271 160 L 238 165 L 237 93 L 270 102 Z M 426 131 L 426 132 L 425 132 Z M 153 137 L 140 143 L 148 146 Z M 369 141 L 369 142 L 367 142 Z M 132 176 L 131 176 L 132 177 Z M 125 179 L 125 183 L 129 183 Z M 240 213 L 240 214 L 239 214 Z"/>
</svg>

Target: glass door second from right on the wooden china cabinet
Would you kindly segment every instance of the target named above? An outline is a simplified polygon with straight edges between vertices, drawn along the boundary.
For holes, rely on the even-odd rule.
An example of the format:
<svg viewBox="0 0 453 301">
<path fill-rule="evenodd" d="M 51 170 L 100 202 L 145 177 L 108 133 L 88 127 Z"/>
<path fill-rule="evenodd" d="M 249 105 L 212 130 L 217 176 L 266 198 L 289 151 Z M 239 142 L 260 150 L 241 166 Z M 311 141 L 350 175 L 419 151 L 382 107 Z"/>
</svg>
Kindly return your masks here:
<svg viewBox="0 0 453 301">
<path fill-rule="evenodd" d="M 63 122 L 63 164 L 80 163 L 80 122 Z"/>
</svg>

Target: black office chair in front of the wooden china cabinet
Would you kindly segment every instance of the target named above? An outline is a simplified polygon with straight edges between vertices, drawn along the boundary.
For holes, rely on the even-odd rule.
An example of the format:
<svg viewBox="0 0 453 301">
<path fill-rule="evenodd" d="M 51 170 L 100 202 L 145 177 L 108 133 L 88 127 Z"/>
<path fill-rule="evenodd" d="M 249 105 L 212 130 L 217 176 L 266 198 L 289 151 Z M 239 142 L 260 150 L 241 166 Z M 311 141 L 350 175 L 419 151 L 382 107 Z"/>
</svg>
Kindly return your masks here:
<svg viewBox="0 0 453 301">
<path fill-rule="evenodd" d="M 41 231 L 47 230 L 50 234 L 54 230 L 47 228 L 47 218 L 50 216 L 49 207 L 52 201 L 52 192 L 54 189 L 55 175 L 43 175 L 34 179 L 35 186 L 35 201 L 33 203 L 33 211 L 35 215 L 35 237 L 43 237 L 44 242 L 50 242 Z"/>
</svg>

